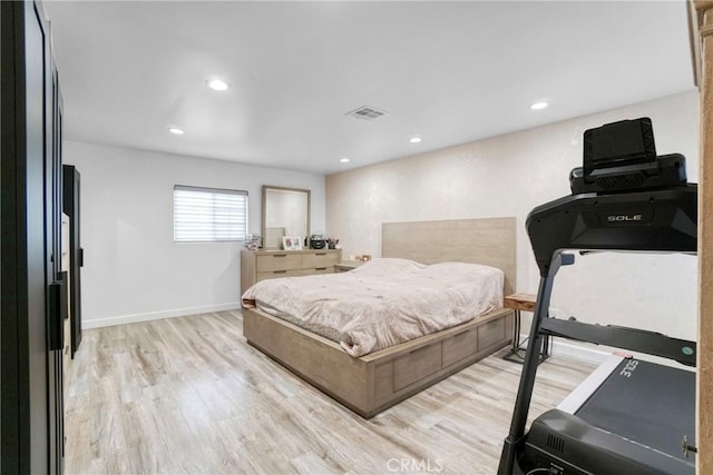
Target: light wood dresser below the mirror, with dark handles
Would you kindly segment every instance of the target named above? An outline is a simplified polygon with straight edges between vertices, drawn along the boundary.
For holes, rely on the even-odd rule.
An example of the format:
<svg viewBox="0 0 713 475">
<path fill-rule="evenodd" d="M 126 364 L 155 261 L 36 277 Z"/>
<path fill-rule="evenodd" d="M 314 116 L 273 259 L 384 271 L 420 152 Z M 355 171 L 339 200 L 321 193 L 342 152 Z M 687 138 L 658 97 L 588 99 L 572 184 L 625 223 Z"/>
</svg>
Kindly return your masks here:
<svg viewBox="0 0 713 475">
<path fill-rule="evenodd" d="M 276 277 L 332 274 L 341 260 L 340 249 L 241 251 L 241 295 L 253 284 Z"/>
</svg>

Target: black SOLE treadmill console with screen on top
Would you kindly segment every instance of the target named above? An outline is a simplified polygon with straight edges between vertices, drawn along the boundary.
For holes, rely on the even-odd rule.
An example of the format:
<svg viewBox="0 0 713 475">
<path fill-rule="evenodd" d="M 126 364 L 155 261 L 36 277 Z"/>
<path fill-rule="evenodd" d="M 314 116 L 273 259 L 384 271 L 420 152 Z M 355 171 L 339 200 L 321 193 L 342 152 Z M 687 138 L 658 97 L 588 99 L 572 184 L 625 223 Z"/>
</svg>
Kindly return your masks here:
<svg viewBox="0 0 713 475">
<path fill-rule="evenodd" d="M 526 219 L 540 275 L 561 249 L 695 253 L 697 186 L 683 155 L 656 155 L 651 119 L 586 130 L 569 185 L 572 195 Z"/>
</svg>

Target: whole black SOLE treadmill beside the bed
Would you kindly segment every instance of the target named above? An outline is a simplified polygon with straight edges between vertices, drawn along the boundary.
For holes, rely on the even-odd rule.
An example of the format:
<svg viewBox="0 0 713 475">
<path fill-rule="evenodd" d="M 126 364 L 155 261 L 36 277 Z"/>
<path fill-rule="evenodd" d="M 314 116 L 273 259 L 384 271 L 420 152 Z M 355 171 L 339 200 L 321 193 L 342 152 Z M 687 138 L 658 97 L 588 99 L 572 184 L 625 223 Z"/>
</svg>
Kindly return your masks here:
<svg viewBox="0 0 713 475">
<path fill-rule="evenodd" d="M 687 184 L 682 155 L 656 155 L 648 118 L 586 130 L 584 164 L 569 181 L 572 195 L 535 208 L 526 220 L 540 283 L 498 475 L 694 474 L 695 342 L 556 319 L 548 308 L 557 271 L 575 263 L 572 250 L 695 254 L 697 185 Z M 545 336 L 683 366 L 615 355 L 526 432 Z"/>
</svg>

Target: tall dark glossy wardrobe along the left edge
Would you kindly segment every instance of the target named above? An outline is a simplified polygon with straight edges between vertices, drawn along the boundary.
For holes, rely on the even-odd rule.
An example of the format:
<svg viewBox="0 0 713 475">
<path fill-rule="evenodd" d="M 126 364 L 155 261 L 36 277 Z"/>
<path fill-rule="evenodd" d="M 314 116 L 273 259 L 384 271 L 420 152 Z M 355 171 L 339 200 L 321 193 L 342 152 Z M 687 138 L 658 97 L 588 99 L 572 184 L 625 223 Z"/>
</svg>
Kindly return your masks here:
<svg viewBox="0 0 713 475">
<path fill-rule="evenodd" d="M 61 96 L 37 1 L 0 2 L 0 472 L 64 461 Z"/>
</svg>

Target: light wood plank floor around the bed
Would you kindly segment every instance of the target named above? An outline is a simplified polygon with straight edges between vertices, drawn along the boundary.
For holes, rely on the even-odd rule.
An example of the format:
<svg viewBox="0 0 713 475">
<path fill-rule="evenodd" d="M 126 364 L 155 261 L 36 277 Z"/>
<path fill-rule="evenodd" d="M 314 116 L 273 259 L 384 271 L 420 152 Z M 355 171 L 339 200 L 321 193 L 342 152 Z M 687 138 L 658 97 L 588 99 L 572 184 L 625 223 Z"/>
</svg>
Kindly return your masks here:
<svg viewBox="0 0 713 475">
<path fill-rule="evenodd" d="M 495 474 L 520 365 L 502 352 L 364 420 L 245 343 L 238 311 L 85 330 L 69 474 Z M 540 365 L 530 417 L 593 366 Z"/>
</svg>

